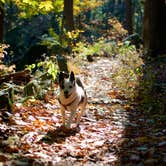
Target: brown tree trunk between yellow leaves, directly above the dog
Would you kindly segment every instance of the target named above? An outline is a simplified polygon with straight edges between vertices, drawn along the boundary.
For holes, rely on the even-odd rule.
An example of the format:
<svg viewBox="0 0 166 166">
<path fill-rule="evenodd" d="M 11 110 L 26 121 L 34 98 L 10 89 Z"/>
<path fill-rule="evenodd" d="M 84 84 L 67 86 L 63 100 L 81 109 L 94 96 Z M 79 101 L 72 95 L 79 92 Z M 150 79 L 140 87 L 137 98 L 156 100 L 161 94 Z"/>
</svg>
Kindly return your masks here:
<svg viewBox="0 0 166 166">
<path fill-rule="evenodd" d="M 63 14 L 64 28 L 67 31 L 74 30 L 73 0 L 64 0 Z"/>
</svg>

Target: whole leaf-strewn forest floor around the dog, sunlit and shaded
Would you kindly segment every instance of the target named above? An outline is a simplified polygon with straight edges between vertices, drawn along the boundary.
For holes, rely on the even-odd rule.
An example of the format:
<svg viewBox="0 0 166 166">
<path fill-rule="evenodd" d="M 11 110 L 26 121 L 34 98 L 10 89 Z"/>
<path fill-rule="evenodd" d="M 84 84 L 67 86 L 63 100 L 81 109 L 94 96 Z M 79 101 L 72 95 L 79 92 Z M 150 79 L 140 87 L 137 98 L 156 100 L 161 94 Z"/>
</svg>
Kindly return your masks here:
<svg viewBox="0 0 166 166">
<path fill-rule="evenodd" d="M 48 95 L 47 103 L 17 103 L 11 119 L 0 123 L 0 164 L 166 165 L 165 123 L 115 86 L 116 65 L 113 58 L 82 64 L 79 77 L 87 90 L 88 114 L 79 128 L 60 127 L 56 95 Z"/>
</svg>

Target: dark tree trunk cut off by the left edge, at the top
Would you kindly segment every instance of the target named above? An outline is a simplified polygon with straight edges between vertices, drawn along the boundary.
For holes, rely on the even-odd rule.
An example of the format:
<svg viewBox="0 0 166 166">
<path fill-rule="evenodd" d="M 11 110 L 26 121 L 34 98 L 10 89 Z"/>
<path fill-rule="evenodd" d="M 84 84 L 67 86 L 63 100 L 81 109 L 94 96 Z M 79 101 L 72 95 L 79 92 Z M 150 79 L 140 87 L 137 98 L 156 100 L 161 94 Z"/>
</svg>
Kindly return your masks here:
<svg viewBox="0 0 166 166">
<path fill-rule="evenodd" d="M 0 42 L 3 41 L 4 3 L 0 2 Z"/>
</svg>

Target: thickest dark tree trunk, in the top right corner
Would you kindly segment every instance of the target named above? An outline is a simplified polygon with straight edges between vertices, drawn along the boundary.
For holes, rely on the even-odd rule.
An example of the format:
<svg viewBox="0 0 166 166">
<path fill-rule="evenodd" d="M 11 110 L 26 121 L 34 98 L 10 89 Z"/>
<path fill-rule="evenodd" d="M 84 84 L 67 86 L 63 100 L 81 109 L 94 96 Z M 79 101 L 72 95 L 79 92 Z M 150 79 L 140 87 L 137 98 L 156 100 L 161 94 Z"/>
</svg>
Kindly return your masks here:
<svg viewBox="0 0 166 166">
<path fill-rule="evenodd" d="M 144 6 L 144 52 L 150 56 L 166 53 L 166 2 L 146 0 Z"/>
</svg>

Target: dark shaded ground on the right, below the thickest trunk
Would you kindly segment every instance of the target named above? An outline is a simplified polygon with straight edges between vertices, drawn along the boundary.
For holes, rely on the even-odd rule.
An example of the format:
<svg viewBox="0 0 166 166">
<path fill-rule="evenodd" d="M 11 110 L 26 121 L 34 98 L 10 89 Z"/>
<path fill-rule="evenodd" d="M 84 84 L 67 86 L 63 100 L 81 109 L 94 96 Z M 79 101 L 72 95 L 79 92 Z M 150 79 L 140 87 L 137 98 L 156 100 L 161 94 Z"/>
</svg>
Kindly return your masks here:
<svg viewBox="0 0 166 166">
<path fill-rule="evenodd" d="M 139 95 L 129 112 L 121 165 L 166 165 L 166 57 L 145 61 Z"/>
</svg>

